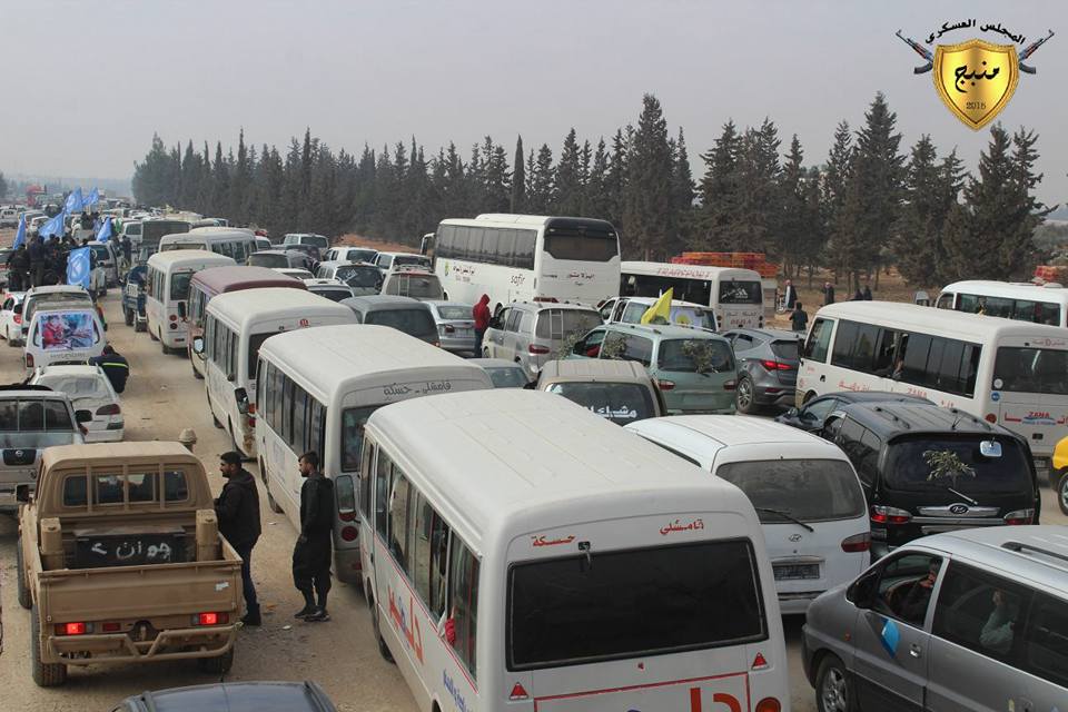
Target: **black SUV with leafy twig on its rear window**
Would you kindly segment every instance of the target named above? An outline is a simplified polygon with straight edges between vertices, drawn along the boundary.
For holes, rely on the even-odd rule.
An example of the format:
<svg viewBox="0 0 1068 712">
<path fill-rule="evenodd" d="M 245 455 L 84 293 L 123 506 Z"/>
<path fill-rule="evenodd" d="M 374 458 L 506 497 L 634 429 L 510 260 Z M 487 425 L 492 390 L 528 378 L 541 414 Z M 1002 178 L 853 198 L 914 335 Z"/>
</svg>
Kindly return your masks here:
<svg viewBox="0 0 1068 712">
<path fill-rule="evenodd" d="M 934 404 L 857 403 L 821 434 L 860 475 L 872 556 L 928 534 L 1038 522 L 1030 447 L 999 425 Z"/>
</svg>

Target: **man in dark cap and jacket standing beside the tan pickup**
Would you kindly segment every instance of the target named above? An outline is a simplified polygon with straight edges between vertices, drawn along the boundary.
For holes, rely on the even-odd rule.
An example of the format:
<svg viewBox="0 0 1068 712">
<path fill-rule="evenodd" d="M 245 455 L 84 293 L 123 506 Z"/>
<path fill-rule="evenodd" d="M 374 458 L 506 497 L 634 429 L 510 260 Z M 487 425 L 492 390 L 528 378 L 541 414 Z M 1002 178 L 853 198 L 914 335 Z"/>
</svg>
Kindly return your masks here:
<svg viewBox="0 0 1068 712">
<path fill-rule="evenodd" d="M 253 547 L 259 538 L 259 493 L 256 478 L 241 467 L 241 454 L 229 452 L 219 456 L 219 472 L 226 478 L 219 498 L 215 501 L 215 515 L 219 520 L 219 533 L 226 537 L 241 557 L 241 592 L 245 594 L 245 625 L 259 625 L 259 601 L 253 585 Z"/>
</svg>

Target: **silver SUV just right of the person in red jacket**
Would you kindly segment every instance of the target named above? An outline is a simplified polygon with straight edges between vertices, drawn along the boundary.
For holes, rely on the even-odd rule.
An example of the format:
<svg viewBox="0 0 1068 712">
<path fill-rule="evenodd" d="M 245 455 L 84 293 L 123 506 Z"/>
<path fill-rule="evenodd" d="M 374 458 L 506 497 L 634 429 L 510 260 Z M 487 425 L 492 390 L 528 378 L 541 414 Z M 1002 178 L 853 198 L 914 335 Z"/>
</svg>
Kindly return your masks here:
<svg viewBox="0 0 1068 712">
<path fill-rule="evenodd" d="M 490 320 L 482 355 L 515 362 L 533 380 L 545 362 L 563 358 L 574 340 L 596 326 L 601 315 L 590 307 L 513 301 Z"/>
</svg>

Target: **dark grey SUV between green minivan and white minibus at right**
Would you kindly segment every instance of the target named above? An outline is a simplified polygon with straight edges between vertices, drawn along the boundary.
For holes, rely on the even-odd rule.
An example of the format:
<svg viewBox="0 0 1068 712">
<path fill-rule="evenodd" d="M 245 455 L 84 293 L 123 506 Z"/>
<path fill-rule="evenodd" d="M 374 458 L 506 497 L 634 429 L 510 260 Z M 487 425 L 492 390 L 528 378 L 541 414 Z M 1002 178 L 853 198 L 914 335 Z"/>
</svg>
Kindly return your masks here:
<svg viewBox="0 0 1068 712">
<path fill-rule="evenodd" d="M 784 407 L 793 403 L 798 364 L 804 336 L 781 329 L 731 329 L 723 332 L 738 359 L 734 405 L 751 414 L 761 406 Z"/>
</svg>

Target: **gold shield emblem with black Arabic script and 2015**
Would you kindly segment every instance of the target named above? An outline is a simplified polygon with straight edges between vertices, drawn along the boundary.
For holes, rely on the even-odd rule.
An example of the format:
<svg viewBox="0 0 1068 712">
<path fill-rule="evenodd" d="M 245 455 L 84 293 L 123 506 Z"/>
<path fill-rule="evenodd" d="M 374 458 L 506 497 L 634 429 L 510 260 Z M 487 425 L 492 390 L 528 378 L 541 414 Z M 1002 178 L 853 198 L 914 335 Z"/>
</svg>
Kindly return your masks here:
<svg viewBox="0 0 1068 712">
<path fill-rule="evenodd" d="M 934 48 L 934 89 L 953 116 L 981 129 L 1009 103 L 1020 80 L 1011 44 L 968 40 Z"/>
</svg>

